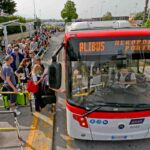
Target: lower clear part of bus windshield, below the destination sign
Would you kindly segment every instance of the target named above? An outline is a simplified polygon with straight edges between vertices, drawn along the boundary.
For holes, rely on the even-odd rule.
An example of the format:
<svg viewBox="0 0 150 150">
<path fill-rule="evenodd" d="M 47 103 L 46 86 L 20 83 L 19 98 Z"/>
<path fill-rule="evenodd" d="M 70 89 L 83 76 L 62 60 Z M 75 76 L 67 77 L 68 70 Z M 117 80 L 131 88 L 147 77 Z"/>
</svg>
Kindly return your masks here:
<svg viewBox="0 0 150 150">
<path fill-rule="evenodd" d="M 71 61 L 70 67 L 69 102 L 76 106 L 90 109 L 102 103 L 111 103 L 115 106 L 150 104 L 150 61 L 146 59 Z M 137 110 L 136 107 L 103 109 Z"/>
</svg>

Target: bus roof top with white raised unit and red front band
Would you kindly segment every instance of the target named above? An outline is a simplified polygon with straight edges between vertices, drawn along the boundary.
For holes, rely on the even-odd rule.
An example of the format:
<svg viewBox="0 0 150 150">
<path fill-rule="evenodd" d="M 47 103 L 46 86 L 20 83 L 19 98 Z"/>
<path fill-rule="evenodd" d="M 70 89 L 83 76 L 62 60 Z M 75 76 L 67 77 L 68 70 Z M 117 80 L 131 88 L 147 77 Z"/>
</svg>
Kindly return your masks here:
<svg viewBox="0 0 150 150">
<path fill-rule="evenodd" d="M 150 29 L 133 27 L 128 21 L 75 22 L 66 28 L 65 41 L 71 38 L 150 36 Z"/>
</svg>

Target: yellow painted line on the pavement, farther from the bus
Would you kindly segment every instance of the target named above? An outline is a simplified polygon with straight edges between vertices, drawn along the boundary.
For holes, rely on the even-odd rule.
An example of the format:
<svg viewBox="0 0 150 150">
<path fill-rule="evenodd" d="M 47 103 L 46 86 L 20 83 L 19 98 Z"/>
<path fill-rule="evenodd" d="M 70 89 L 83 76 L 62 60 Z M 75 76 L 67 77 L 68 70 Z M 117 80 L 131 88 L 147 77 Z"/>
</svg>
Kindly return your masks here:
<svg viewBox="0 0 150 150">
<path fill-rule="evenodd" d="M 32 145 L 34 137 L 37 133 L 37 125 L 38 125 L 38 120 L 39 120 L 39 113 L 35 112 L 34 113 L 34 117 L 33 117 L 33 122 L 32 122 L 32 126 L 31 128 L 35 128 L 35 130 L 30 130 L 27 141 L 26 141 L 26 145 L 25 145 L 25 150 L 31 150 L 31 148 L 29 146 Z"/>
</svg>

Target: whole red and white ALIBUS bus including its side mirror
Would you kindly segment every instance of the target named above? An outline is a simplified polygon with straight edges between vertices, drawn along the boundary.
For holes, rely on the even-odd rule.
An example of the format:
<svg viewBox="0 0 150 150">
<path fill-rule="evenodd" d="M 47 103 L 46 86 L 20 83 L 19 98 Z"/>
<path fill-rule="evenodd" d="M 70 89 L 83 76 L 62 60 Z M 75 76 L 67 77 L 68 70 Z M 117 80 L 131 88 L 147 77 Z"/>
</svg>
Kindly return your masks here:
<svg viewBox="0 0 150 150">
<path fill-rule="evenodd" d="M 63 66 L 56 56 L 64 47 L 68 134 L 85 140 L 149 138 L 150 30 L 85 24 L 74 23 L 65 33 L 49 66 L 50 87 L 59 89 Z"/>
</svg>

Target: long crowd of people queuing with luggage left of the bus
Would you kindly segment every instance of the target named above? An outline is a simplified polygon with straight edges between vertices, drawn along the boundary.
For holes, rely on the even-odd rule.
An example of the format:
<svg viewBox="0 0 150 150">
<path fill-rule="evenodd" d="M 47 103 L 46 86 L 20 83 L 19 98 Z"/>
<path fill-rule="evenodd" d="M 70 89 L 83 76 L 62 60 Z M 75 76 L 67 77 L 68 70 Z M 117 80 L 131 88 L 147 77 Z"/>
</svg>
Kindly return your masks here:
<svg viewBox="0 0 150 150">
<path fill-rule="evenodd" d="M 32 79 L 39 90 L 34 93 L 35 110 L 40 112 L 44 107 L 41 101 L 41 82 L 43 81 L 44 65 L 41 63 L 41 54 L 49 46 L 50 32 L 47 30 L 35 31 L 33 38 L 14 40 L 8 45 L 5 62 L 2 64 L 0 77 L 4 83 L 3 91 L 18 92 L 17 85 L 26 85 Z M 16 108 L 16 94 L 9 94 L 10 111 L 20 112 Z"/>
</svg>

